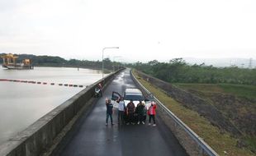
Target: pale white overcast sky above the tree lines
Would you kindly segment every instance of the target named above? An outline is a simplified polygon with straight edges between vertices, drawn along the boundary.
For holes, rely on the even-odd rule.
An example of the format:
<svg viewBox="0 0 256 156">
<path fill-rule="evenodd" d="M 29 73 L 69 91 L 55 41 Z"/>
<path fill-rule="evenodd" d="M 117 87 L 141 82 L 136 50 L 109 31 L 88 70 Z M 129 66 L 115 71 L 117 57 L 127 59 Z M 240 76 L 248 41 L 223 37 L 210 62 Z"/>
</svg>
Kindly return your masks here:
<svg viewBox="0 0 256 156">
<path fill-rule="evenodd" d="M 255 0 L 0 0 L 0 53 L 256 58 Z M 120 56 L 120 57 L 117 57 Z"/>
</svg>

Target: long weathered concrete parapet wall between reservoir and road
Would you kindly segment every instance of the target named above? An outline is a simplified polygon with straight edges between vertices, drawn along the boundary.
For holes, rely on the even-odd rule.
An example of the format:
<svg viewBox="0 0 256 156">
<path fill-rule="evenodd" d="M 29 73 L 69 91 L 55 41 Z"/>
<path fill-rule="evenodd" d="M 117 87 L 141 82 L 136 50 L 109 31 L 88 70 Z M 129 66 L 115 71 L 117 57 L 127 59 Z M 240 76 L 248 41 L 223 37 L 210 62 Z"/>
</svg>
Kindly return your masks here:
<svg viewBox="0 0 256 156">
<path fill-rule="evenodd" d="M 121 69 L 122 70 L 122 69 Z M 119 71 L 121 71 L 119 70 Z M 25 131 L 5 141 L 0 145 L 1 156 L 34 156 L 39 155 L 53 145 L 55 137 L 75 117 L 80 110 L 89 107 L 88 103 L 94 94 L 96 85 L 106 85 L 119 71 L 113 72 L 102 80 L 98 80 L 83 89 L 71 99 L 60 104 L 57 108 L 47 113 L 44 117 L 28 126 Z"/>
</svg>

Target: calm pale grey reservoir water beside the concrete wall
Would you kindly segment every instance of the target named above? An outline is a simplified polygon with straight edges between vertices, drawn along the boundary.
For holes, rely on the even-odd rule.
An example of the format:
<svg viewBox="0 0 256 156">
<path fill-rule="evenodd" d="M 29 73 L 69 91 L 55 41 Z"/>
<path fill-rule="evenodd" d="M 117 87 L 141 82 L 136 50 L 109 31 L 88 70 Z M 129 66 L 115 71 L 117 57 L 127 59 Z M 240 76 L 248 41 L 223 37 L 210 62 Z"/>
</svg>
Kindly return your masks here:
<svg viewBox="0 0 256 156">
<path fill-rule="evenodd" d="M 81 68 L 35 67 L 20 71 L 0 68 L 0 79 L 47 83 L 0 81 L 0 144 L 84 89 L 56 84 L 86 86 L 101 78 L 102 71 Z"/>
</svg>

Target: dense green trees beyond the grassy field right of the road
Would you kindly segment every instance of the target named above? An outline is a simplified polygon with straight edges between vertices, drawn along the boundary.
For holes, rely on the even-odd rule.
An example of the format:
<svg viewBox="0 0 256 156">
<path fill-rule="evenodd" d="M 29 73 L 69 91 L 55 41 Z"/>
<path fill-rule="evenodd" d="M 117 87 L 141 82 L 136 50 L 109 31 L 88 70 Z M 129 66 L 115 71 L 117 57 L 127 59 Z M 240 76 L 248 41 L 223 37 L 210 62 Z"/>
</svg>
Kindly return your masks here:
<svg viewBox="0 0 256 156">
<path fill-rule="evenodd" d="M 169 62 L 157 60 L 147 63 L 136 62 L 130 64 L 139 71 L 157 77 L 170 83 L 228 83 L 256 85 L 256 69 L 239 67 L 212 67 L 188 65 L 183 58 L 174 58 Z"/>
</svg>

